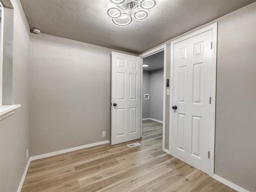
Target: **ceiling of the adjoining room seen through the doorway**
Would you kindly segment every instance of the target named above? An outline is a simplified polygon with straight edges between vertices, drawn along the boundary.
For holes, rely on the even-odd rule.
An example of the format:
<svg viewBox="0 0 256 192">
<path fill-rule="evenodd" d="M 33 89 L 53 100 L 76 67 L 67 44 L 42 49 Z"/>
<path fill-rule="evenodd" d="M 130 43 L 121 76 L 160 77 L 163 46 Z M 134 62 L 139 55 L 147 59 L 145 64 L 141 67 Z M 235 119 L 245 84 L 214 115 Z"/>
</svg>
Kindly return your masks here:
<svg viewBox="0 0 256 192">
<path fill-rule="evenodd" d="M 153 71 L 164 68 L 164 51 L 143 58 L 143 64 L 148 64 L 148 67 L 143 67 L 145 71 Z"/>
</svg>

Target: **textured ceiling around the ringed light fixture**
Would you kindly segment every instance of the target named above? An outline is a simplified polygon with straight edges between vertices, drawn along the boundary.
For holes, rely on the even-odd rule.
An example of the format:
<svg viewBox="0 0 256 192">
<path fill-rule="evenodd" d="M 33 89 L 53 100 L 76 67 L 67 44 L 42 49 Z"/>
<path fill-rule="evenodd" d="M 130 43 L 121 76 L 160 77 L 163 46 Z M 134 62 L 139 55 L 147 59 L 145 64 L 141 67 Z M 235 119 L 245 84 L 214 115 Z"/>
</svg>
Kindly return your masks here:
<svg viewBox="0 0 256 192">
<path fill-rule="evenodd" d="M 256 0 L 158 0 L 127 27 L 106 16 L 109 0 L 20 1 L 31 30 L 138 54 Z"/>
</svg>

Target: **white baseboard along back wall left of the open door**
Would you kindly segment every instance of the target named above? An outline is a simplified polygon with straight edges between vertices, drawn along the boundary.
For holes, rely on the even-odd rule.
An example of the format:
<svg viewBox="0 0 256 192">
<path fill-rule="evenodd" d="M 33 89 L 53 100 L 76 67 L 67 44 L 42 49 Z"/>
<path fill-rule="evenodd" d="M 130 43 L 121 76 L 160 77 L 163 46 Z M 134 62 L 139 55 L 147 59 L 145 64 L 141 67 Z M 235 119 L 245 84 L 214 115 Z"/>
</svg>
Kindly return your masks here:
<svg viewBox="0 0 256 192">
<path fill-rule="evenodd" d="M 78 147 L 64 149 L 64 150 L 60 150 L 60 151 L 56 151 L 56 152 L 37 155 L 37 156 L 30 157 L 30 160 L 31 161 L 38 160 L 38 159 L 42 159 L 42 158 L 46 158 L 46 157 L 51 157 L 51 156 L 54 156 L 54 155 L 64 154 L 64 153 L 68 153 L 68 152 L 72 152 L 72 151 L 76 151 L 76 150 L 80 150 L 80 149 L 84 149 L 84 148 L 89 148 L 89 147 L 93 147 L 93 146 L 97 146 L 97 145 L 107 144 L 107 143 L 110 143 L 110 141 L 106 140 L 106 141 L 101 141 L 101 142 L 97 142 L 97 143 L 91 143 L 91 144 L 87 144 L 87 145 L 82 145 L 82 146 L 78 146 Z"/>
</svg>

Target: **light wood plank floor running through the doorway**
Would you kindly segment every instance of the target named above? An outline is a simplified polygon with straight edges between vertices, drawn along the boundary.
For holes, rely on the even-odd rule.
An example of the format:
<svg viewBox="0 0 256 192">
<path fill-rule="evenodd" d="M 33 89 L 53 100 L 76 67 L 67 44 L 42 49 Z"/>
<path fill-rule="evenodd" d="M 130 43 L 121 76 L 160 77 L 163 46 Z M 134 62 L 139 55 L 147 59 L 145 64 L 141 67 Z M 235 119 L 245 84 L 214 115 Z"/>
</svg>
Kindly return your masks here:
<svg viewBox="0 0 256 192">
<path fill-rule="evenodd" d="M 22 192 L 234 192 L 162 151 L 162 124 L 143 121 L 142 139 L 30 163 Z M 140 142 L 129 148 L 126 144 Z"/>
</svg>

